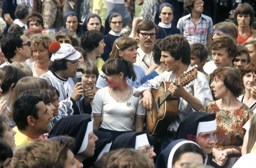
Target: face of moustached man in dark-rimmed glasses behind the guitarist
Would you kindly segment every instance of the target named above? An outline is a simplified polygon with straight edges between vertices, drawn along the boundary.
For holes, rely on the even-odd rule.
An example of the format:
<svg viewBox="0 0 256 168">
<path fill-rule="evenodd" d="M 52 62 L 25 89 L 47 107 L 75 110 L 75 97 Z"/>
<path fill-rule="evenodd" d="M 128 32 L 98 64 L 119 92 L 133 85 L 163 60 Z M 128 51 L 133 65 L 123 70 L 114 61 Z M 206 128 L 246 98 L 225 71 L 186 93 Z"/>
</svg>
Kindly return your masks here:
<svg viewBox="0 0 256 168">
<path fill-rule="evenodd" d="M 155 33 L 156 34 L 156 29 L 151 29 L 151 30 L 141 30 L 140 33 L 136 33 L 137 39 L 140 41 L 140 48 L 146 49 L 146 48 L 151 48 L 153 47 L 153 44 L 155 43 L 156 36 L 154 38 L 151 38 L 149 34 Z M 143 34 L 143 36 L 142 36 Z M 146 37 L 148 35 L 148 37 Z M 151 35 L 152 36 L 152 35 Z"/>
</svg>

